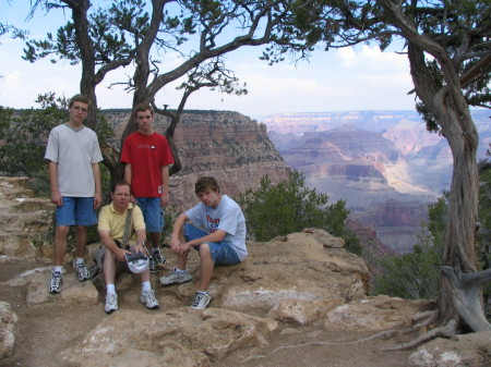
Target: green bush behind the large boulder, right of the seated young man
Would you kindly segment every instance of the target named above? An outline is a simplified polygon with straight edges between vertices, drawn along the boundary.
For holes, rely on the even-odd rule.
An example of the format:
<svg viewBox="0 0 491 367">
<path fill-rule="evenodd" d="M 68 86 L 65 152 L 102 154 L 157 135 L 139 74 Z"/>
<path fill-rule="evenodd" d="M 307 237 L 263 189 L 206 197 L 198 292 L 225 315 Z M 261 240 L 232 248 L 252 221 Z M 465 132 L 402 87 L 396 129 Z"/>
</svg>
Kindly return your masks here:
<svg viewBox="0 0 491 367">
<path fill-rule="evenodd" d="M 328 205 L 328 196 L 306 187 L 304 176 L 291 172 L 289 180 L 273 184 L 265 175 L 260 187 L 239 198 L 248 223 L 248 235 L 254 241 L 270 241 L 278 235 L 319 228 L 344 237 L 347 248 L 361 254 L 359 241 L 345 229 L 349 210 L 339 200 Z"/>
</svg>

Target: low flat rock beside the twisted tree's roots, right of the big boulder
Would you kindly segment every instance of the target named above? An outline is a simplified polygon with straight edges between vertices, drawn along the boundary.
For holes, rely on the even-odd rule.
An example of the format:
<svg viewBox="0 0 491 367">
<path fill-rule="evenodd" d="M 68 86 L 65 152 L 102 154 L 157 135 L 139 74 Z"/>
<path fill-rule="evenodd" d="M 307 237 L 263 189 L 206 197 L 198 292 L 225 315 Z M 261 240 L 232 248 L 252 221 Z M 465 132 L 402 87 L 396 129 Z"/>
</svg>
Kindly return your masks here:
<svg viewBox="0 0 491 367">
<path fill-rule="evenodd" d="M 324 329 L 381 331 L 409 326 L 415 314 L 434 307 L 430 301 L 406 301 L 380 295 L 354 301 L 328 311 Z"/>
</svg>

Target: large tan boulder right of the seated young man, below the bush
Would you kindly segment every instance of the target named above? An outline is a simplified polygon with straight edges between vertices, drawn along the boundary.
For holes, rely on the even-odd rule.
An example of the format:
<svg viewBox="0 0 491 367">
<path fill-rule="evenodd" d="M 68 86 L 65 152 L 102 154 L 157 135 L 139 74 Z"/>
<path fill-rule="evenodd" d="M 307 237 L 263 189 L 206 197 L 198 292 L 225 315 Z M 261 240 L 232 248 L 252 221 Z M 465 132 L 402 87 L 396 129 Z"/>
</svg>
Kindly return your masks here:
<svg viewBox="0 0 491 367">
<path fill-rule="evenodd" d="M 221 306 L 267 313 L 285 299 L 349 301 L 367 294 L 370 273 L 364 262 L 343 248 L 326 247 L 316 237 L 321 233 L 325 238 L 319 230 L 248 243 L 250 257 L 224 282 Z"/>
</svg>

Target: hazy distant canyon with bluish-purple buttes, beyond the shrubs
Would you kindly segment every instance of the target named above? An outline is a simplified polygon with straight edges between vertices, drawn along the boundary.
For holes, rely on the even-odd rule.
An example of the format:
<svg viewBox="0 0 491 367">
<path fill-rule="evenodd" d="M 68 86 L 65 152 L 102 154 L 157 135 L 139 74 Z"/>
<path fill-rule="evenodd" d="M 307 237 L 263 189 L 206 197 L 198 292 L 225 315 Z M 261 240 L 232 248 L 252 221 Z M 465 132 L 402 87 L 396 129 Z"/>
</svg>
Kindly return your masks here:
<svg viewBox="0 0 491 367">
<path fill-rule="evenodd" d="M 472 111 L 478 160 L 491 143 L 490 112 Z M 350 218 L 385 245 L 412 250 L 428 205 L 450 189 L 452 152 L 416 111 L 275 113 L 262 121 L 290 168 L 308 186 L 343 199 Z"/>
</svg>

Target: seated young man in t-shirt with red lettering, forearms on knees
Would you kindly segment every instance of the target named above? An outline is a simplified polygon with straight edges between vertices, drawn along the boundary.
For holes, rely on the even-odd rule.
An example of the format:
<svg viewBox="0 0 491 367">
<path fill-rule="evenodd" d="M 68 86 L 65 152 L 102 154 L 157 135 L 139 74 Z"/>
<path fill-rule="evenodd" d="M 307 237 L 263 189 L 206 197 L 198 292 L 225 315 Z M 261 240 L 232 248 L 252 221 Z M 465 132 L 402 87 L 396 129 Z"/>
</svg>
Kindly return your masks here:
<svg viewBox="0 0 491 367">
<path fill-rule="evenodd" d="M 194 247 L 200 253 L 201 282 L 191 307 L 204 309 L 212 299 L 207 290 L 215 264 L 235 265 L 248 256 L 246 219 L 239 205 L 220 194 L 214 178 L 200 178 L 194 192 L 201 203 L 173 223 L 170 248 L 178 257 L 176 268 L 158 281 L 163 285 L 189 282 L 192 277 L 185 264 L 190 248 Z M 188 220 L 194 225 L 185 224 Z"/>
</svg>

